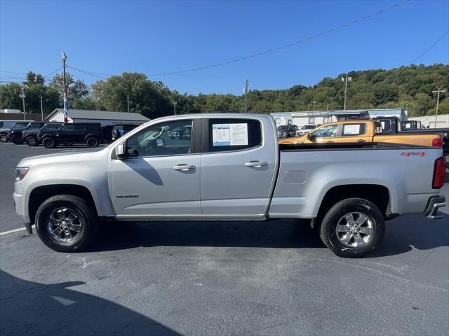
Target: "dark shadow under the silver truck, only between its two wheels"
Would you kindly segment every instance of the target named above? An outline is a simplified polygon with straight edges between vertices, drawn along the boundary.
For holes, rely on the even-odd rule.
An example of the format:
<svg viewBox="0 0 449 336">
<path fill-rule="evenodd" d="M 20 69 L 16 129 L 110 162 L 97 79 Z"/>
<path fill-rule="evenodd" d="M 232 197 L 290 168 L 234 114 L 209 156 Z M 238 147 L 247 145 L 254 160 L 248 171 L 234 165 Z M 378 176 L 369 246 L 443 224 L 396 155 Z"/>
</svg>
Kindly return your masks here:
<svg viewBox="0 0 449 336">
<path fill-rule="evenodd" d="M 291 220 L 111 222 L 103 223 L 102 228 L 95 251 L 140 246 L 324 247 L 308 223 Z"/>
</svg>

